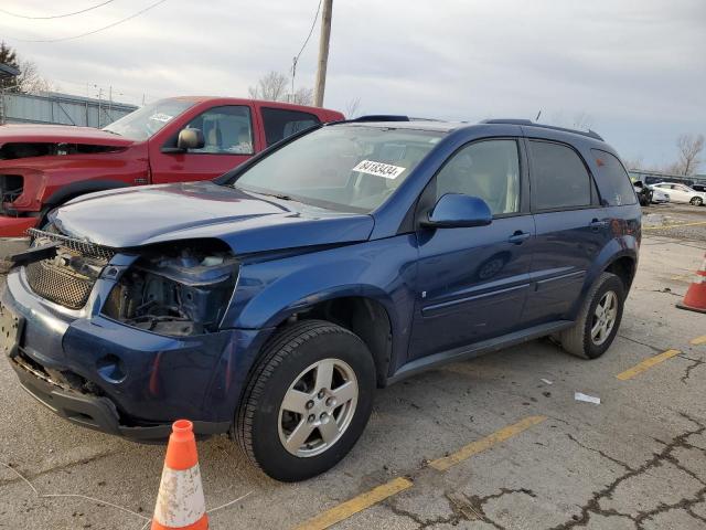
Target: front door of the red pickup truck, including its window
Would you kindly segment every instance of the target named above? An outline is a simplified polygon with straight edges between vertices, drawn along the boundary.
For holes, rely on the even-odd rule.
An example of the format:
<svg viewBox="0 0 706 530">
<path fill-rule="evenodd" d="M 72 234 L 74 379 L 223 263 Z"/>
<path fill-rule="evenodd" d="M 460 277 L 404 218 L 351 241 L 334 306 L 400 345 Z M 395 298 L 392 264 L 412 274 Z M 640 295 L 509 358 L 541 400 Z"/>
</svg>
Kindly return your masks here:
<svg viewBox="0 0 706 530">
<path fill-rule="evenodd" d="M 179 130 L 162 145 L 150 144 L 152 182 L 214 179 L 239 166 L 258 149 L 253 109 L 248 105 L 211 107 L 192 118 L 185 128 L 201 129 L 204 147 L 186 152 L 162 152 L 176 147 Z"/>
</svg>

